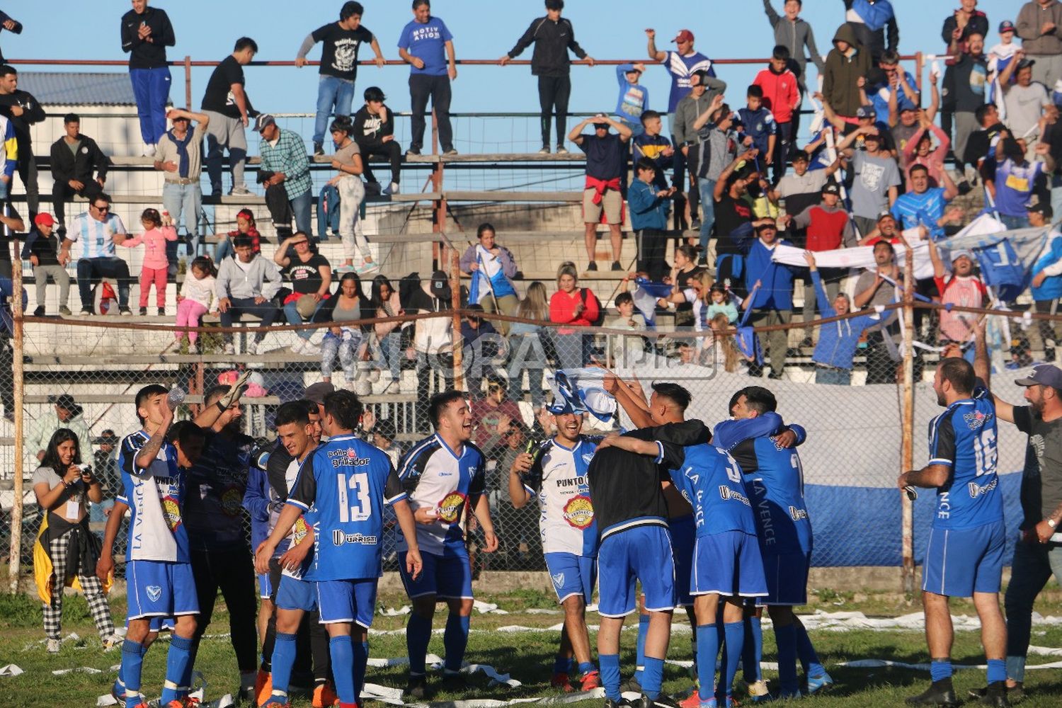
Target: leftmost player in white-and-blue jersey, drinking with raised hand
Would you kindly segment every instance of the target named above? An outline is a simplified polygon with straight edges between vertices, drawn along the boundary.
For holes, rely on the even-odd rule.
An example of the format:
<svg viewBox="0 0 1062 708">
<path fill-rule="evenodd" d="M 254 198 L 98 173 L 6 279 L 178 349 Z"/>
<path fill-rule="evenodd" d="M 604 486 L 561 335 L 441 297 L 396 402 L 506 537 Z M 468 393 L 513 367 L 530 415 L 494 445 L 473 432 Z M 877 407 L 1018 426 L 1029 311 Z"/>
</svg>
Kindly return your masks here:
<svg viewBox="0 0 1062 708">
<path fill-rule="evenodd" d="M 187 466 L 178 465 L 177 450 L 166 439 L 173 421 L 173 410 L 166 395 L 167 390 L 158 384 L 137 392 L 136 413 L 142 429 L 122 439 L 119 454 L 123 491 L 117 501 L 132 512 L 125 550 L 129 628 L 119 670 L 125 684 L 125 708 L 139 708 L 148 703 L 140 691 L 140 675 L 143 643 L 152 629 L 152 618 L 176 620 L 166 659 L 161 704 L 168 706 L 183 698 L 182 691 L 190 683 L 186 683 L 186 672 L 199 602 L 188 553 L 188 531 L 182 517 L 188 470 Z M 199 436 L 202 449 L 198 429 L 191 426 L 185 430 L 188 447 L 195 447 Z M 183 462 L 194 460 L 186 457 Z M 115 518 L 117 531 L 121 514 L 115 514 Z M 113 534 L 110 539 L 113 542 Z M 109 556 L 110 547 L 105 552 Z"/>
</svg>

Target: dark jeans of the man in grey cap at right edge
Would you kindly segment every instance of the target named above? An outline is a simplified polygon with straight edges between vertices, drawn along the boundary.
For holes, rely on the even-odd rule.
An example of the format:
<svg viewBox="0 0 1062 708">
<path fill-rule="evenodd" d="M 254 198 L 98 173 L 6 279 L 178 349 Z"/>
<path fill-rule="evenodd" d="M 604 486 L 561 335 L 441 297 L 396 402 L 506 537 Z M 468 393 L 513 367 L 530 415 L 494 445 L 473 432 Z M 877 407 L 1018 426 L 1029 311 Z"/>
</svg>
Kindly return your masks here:
<svg viewBox="0 0 1062 708">
<path fill-rule="evenodd" d="M 1014 545 L 1010 585 L 1004 607 L 1007 609 L 1007 678 L 1025 680 L 1025 655 L 1029 652 L 1032 631 L 1032 603 L 1051 574 L 1062 583 L 1062 543 L 1026 542 Z"/>
</svg>

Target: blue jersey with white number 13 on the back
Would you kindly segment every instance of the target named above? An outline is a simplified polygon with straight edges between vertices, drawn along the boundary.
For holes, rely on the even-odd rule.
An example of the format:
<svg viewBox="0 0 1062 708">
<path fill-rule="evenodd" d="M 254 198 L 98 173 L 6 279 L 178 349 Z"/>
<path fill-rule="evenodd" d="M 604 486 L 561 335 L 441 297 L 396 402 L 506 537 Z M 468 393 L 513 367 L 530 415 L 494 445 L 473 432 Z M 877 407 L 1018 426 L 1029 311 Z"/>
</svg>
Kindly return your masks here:
<svg viewBox="0 0 1062 708">
<path fill-rule="evenodd" d="M 406 498 L 391 460 L 354 435 L 322 442 L 303 461 L 288 503 L 313 511 L 308 581 L 379 577 L 383 504 Z M 311 516 L 311 518 L 313 518 Z"/>
</svg>

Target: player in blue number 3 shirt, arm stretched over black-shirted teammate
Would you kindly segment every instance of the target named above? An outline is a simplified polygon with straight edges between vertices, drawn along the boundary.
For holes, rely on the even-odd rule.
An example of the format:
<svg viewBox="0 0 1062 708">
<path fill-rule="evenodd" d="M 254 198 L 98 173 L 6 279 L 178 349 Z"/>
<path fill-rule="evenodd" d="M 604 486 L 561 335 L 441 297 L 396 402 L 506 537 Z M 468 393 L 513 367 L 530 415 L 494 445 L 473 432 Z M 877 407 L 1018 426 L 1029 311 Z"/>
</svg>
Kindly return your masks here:
<svg viewBox="0 0 1062 708">
<path fill-rule="evenodd" d="M 605 441 L 629 452 L 663 457 L 671 470 L 672 483 L 693 507 L 697 545 L 690 592 L 697 612 L 697 670 L 701 687 L 693 695 L 698 696 L 701 708 L 716 708 L 717 698 L 726 706 L 734 705 L 731 687 L 744 641 L 742 599 L 767 594 L 764 563 L 741 469 L 726 452 L 707 443 L 682 448 L 619 435 L 610 435 Z M 722 680 L 716 689 L 720 600 L 725 603 L 722 619 L 726 659 Z"/>
</svg>

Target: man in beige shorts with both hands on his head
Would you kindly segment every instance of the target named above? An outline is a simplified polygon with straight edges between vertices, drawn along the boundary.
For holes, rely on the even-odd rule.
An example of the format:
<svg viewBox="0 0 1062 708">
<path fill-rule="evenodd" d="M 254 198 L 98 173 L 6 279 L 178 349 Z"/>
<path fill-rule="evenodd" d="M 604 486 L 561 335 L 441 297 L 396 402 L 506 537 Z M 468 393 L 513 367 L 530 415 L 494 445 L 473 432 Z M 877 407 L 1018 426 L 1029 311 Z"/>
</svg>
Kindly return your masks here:
<svg viewBox="0 0 1062 708">
<path fill-rule="evenodd" d="M 594 124 L 594 133 L 583 135 L 582 131 Z M 615 127 L 618 135 L 609 133 L 609 127 Z M 626 178 L 623 154 L 631 139 L 631 128 L 618 123 L 604 114 L 594 118 L 583 119 L 579 125 L 571 128 L 568 140 L 579 145 L 586 153 L 586 186 L 583 188 L 583 224 L 585 226 L 586 258 L 589 260 L 587 271 L 597 270 L 595 249 L 597 246 L 597 225 L 601 221 L 609 224 L 612 239 L 612 270 L 621 271 L 619 255 L 623 248 L 623 236 L 620 225 L 623 223 L 623 196 L 620 194 L 620 180 Z"/>
</svg>

